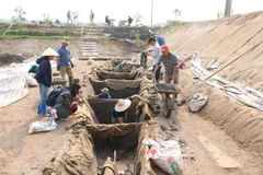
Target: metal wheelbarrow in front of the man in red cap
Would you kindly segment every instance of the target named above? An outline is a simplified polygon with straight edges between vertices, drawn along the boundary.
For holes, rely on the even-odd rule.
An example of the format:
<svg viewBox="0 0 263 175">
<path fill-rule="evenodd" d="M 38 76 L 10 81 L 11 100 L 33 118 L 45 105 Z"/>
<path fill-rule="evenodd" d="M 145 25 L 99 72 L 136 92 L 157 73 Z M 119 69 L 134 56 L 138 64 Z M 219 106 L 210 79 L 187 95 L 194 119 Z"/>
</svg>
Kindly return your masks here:
<svg viewBox="0 0 263 175">
<path fill-rule="evenodd" d="M 182 89 L 176 84 L 170 83 L 155 84 L 155 89 L 162 95 L 162 101 L 164 104 L 162 113 L 167 118 L 169 118 L 172 114 L 172 110 L 176 109 L 176 104 L 174 103 L 174 100 L 171 97 L 171 95 L 175 96 L 176 94 L 182 93 Z"/>
</svg>

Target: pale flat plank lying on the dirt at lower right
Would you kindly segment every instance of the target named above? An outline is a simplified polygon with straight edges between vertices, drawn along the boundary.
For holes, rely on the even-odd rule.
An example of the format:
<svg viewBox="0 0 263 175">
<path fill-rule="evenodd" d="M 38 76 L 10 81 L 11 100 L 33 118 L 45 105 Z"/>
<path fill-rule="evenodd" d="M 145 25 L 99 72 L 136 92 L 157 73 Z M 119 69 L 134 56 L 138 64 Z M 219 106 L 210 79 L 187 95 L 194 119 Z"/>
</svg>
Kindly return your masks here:
<svg viewBox="0 0 263 175">
<path fill-rule="evenodd" d="M 221 168 L 240 168 L 242 165 L 235 161 L 232 158 L 226 155 L 218 147 L 213 144 L 206 137 L 198 136 L 199 142 L 203 144 L 206 151 L 208 151 L 213 159 L 217 162 Z"/>
</svg>

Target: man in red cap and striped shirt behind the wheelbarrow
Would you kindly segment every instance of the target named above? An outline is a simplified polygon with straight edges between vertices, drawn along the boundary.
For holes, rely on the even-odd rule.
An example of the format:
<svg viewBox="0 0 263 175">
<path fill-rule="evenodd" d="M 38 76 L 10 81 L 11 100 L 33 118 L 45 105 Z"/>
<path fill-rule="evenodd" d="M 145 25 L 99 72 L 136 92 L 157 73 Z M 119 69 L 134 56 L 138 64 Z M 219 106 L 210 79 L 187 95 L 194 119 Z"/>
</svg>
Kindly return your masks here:
<svg viewBox="0 0 263 175">
<path fill-rule="evenodd" d="M 156 69 L 153 70 L 152 79 L 156 77 L 156 72 L 158 71 L 161 63 L 163 63 L 165 68 L 165 83 L 171 83 L 172 81 L 174 84 L 178 84 L 179 83 L 178 57 L 169 51 L 169 47 L 167 45 L 161 46 L 161 52 L 162 55 L 159 61 L 157 62 Z"/>
</svg>

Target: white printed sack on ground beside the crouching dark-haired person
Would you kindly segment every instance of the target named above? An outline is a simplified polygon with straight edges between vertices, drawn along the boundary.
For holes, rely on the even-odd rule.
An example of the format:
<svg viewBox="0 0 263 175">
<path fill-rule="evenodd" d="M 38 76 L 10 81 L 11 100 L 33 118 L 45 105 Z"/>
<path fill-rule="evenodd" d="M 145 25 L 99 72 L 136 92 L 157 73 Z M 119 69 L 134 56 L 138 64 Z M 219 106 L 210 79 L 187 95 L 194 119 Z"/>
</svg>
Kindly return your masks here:
<svg viewBox="0 0 263 175">
<path fill-rule="evenodd" d="M 57 118 L 57 110 L 52 109 L 52 117 L 48 121 L 34 121 L 30 125 L 28 133 L 36 133 L 36 132 L 45 132 L 55 130 L 57 128 L 57 122 L 55 119 Z"/>
</svg>

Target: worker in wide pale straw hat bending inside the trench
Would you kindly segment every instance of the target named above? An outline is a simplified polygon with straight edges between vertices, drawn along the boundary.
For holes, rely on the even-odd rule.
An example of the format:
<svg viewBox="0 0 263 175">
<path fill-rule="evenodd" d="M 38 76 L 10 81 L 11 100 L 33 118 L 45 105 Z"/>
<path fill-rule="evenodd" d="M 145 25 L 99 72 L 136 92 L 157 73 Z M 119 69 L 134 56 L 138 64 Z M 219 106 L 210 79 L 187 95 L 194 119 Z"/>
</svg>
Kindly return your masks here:
<svg viewBox="0 0 263 175">
<path fill-rule="evenodd" d="M 141 101 L 142 97 L 140 95 L 133 95 L 125 100 L 118 100 L 114 109 L 112 110 L 112 124 L 123 124 L 127 122 L 127 109 L 129 108 L 133 100 Z"/>
</svg>

